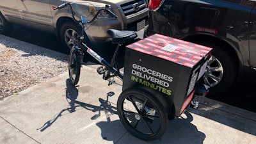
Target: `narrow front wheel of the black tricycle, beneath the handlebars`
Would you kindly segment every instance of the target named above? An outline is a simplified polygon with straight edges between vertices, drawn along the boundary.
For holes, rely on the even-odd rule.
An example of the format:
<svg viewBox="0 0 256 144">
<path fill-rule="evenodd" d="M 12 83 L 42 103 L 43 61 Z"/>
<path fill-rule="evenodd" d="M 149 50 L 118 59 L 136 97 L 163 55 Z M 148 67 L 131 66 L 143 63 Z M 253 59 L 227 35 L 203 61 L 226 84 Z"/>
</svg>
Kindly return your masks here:
<svg viewBox="0 0 256 144">
<path fill-rule="evenodd" d="M 68 74 L 70 83 L 75 86 L 80 77 L 81 72 L 81 56 L 79 52 L 70 51 L 70 60 L 68 62 Z"/>
</svg>

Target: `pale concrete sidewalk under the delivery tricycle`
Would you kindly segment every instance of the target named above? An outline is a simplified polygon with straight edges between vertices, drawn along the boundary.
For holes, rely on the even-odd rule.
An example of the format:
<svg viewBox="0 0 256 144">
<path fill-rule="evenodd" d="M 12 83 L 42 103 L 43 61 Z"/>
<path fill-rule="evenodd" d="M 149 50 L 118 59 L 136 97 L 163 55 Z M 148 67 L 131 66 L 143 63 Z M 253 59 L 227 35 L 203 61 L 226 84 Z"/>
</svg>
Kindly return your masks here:
<svg viewBox="0 0 256 144">
<path fill-rule="evenodd" d="M 121 124 L 122 81 L 108 86 L 97 65 L 83 66 L 74 88 L 68 72 L 0 102 L 0 143 L 255 143 L 256 114 L 200 98 L 171 120 L 161 140 L 141 141 Z M 108 97 L 109 92 L 115 95 Z M 108 99 L 108 102 L 106 100 Z"/>
</svg>

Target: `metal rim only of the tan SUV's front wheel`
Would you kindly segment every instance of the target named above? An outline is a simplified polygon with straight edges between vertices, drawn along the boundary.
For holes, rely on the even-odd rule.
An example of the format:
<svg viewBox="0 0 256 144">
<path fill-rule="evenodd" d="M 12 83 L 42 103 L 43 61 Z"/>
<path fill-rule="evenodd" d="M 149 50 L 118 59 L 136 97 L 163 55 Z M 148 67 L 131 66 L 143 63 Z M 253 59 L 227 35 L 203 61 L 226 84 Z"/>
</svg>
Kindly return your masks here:
<svg viewBox="0 0 256 144">
<path fill-rule="evenodd" d="M 70 49 L 74 46 L 77 36 L 78 33 L 74 29 L 67 29 L 65 31 L 65 42 Z"/>
</svg>

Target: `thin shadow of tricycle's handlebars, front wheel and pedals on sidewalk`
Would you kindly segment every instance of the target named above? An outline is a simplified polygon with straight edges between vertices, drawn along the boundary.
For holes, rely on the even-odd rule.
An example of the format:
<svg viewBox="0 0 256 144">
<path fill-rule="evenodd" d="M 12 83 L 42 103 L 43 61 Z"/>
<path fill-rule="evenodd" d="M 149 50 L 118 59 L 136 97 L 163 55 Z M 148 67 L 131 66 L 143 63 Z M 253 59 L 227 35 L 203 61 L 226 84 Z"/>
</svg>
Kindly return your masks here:
<svg viewBox="0 0 256 144">
<path fill-rule="evenodd" d="M 113 114 L 117 115 L 116 107 L 112 106 L 113 104 L 108 101 L 109 97 L 115 95 L 114 92 L 107 93 L 106 100 L 99 98 L 100 105 L 95 106 L 92 104 L 86 104 L 84 102 L 80 102 L 80 101 L 76 100 L 79 95 L 78 89 L 77 89 L 77 88 L 79 88 L 79 86 L 72 86 L 70 84 L 69 79 L 66 80 L 66 86 L 67 86 L 66 99 L 67 99 L 67 102 L 70 107 L 62 109 L 60 111 L 60 113 L 58 113 L 58 115 L 54 116 L 54 118 L 52 118 L 51 120 L 48 120 L 47 122 L 45 122 L 45 124 L 42 125 L 42 127 L 38 128 L 36 130 L 40 130 L 41 132 L 45 131 L 45 129 L 51 127 L 51 125 L 54 124 L 54 122 L 56 122 L 56 120 L 58 120 L 58 118 L 60 118 L 60 116 L 62 116 L 64 112 L 68 111 L 68 113 L 74 113 L 74 112 L 76 112 L 76 108 L 78 108 L 78 107 L 88 109 L 93 112 L 98 112 L 96 115 L 92 116 L 92 118 L 91 118 L 92 120 L 99 118 L 99 116 L 101 115 L 101 111 L 104 111 L 108 121 L 110 121 L 109 116 L 111 116 Z"/>
</svg>

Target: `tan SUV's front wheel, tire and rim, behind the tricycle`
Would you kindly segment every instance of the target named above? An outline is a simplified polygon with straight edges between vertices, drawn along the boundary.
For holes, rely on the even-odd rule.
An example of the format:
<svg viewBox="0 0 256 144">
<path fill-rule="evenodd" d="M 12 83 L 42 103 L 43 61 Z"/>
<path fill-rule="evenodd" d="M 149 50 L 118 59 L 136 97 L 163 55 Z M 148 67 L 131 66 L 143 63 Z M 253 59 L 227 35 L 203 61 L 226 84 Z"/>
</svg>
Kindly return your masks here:
<svg viewBox="0 0 256 144">
<path fill-rule="evenodd" d="M 74 42 L 81 34 L 81 28 L 75 22 L 64 22 L 60 28 L 61 44 L 65 47 L 65 51 L 69 53 L 70 49 L 74 46 Z M 84 42 L 90 45 L 88 37 L 84 35 Z"/>
</svg>

